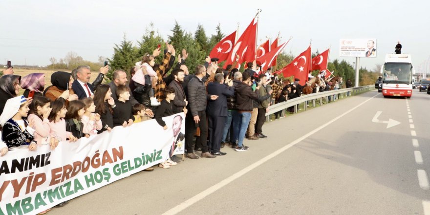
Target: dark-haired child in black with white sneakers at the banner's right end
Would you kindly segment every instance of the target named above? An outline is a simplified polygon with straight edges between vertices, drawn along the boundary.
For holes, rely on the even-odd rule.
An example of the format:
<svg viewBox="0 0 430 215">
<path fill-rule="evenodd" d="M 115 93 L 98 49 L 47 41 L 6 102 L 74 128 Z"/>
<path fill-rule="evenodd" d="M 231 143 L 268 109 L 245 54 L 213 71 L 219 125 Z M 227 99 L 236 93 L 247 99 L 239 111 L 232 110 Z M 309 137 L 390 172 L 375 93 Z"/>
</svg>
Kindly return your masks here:
<svg viewBox="0 0 430 215">
<path fill-rule="evenodd" d="M 175 97 L 174 89 L 169 86 L 164 88 L 164 95 L 165 95 L 165 98 L 163 99 L 163 101 L 161 101 L 161 105 L 157 108 L 157 111 L 155 113 L 155 120 L 160 126 L 163 127 L 163 129 L 167 130 L 166 122 L 164 122 L 162 117 L 173 115 L 171 102 Z M 174 166 L 174 165 L 177 165 L 177 163 L 172 161 L 172 159 L 169 158 L 167 161 L 160 163 L 158 167 L 161 167 L 163 169 L 168 169 L 170 168 L 170 166 Z"/>
</svg>

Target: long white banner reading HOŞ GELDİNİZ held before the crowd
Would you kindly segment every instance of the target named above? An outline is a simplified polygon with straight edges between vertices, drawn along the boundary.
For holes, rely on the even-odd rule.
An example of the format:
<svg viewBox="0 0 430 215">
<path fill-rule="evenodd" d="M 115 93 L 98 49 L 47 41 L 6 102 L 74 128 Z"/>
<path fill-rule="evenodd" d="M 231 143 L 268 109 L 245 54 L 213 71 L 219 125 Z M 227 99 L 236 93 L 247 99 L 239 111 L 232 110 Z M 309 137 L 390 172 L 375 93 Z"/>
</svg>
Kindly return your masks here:
<svg viewBox="0 0 430 215">
<path fill-rule="evenodd" d="M 37 214 L 184 153 L 185 115 L 0 157 L 0 215 Z"/>
</svg>

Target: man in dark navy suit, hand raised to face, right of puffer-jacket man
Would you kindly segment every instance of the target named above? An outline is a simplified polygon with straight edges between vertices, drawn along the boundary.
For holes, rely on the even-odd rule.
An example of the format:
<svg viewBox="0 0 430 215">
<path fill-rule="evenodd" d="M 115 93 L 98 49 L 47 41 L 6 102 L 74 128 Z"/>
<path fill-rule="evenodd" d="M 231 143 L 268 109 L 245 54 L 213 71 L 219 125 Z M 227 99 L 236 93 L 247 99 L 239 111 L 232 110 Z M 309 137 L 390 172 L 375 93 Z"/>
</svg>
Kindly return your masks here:
<svg viewBox="0 0 430 215">
<path fill-rule="evenodd" d="M 234 96 L 235 90 L 232 87 L 233 81 L 224 74 L 215 74 L 215 81 L 208 84 L 208 94 L 217 95 L 218 99 L 208 102 L 206 111 L 209 118 L 209 147 L 213 155 L 225 155 L 219 151 L 221 148 L 221 138 L 224 131 L 224 124 L 227 118 L 227 96 Z"/>
</svg>

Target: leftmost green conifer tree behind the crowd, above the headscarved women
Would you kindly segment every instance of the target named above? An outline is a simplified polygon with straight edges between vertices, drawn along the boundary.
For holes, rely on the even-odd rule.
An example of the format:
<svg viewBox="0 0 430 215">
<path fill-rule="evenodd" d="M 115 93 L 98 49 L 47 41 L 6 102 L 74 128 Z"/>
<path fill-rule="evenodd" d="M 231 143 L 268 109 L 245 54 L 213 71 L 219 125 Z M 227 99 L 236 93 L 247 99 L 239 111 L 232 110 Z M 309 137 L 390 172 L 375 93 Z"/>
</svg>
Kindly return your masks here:
<svg viewBox="0 0 430 215">
<path fill-rule="evenodd" d="M 113 56 L 109 59 L 109 72 L 105 76 L 106 81 L 112 81 L 112 73 L 116 69 L 123 69 L 128 72 L 134 66 L 137 58 L 137 47 L 133 46 L 133 43 L 128 41 L 124 34 L 121 44 L 115 44 L 113 47 Z"/>
</svg>

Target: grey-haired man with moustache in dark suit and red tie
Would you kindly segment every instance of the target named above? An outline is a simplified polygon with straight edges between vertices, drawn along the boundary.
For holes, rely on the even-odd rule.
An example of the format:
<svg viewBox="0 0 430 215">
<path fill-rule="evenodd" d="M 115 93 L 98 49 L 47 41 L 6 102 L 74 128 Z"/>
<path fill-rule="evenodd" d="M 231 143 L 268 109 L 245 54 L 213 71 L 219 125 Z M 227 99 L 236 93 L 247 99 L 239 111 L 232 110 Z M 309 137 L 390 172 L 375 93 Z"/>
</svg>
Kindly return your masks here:
<svg viewBox="0 0 430 215">
<path fill-rule="evenodd" d="M 94 96 L 94 88 L 91 84 L 88 84 L 90 78 L 91 70 L 89 66 L 80 65 L 76 68 L 76 80 L 72 84 L 72 89 L 79 99 Z"/>
</svg>

